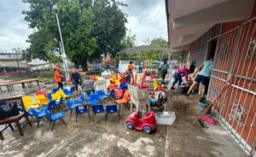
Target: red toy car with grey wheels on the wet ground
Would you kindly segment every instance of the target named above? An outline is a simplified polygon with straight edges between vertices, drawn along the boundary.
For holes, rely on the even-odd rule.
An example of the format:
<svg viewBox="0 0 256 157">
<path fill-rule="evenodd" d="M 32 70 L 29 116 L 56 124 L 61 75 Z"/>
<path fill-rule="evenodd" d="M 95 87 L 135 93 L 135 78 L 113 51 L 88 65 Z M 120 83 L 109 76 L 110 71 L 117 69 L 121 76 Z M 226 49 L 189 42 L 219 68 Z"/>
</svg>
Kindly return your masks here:
<svg viewBox="0 0 256 157">
<path fill-rule="evenodd" d="M 154 112 L 148 111 L 146 117 L 140 118 L 138 111 L 132 113 L 128 119 L 125 120 L 125 124 L 128 129 L 135 129 L 138 131 L 144 131 L 145 133 L 151 133 L 156 129 L 156 121 Z"/>
</svg>

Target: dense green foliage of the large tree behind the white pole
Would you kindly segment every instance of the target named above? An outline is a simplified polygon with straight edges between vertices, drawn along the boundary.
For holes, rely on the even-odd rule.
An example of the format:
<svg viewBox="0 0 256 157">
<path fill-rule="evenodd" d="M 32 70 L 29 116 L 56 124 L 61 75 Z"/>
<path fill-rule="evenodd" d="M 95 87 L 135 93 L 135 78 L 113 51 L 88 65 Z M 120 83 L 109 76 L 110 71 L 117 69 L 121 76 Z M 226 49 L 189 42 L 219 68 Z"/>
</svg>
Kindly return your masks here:
<svg viewBox="0 0 256 157">
<path fill-rule="evenodd" d="M 103 54 L 115 55 L 125 38 L 125 14 L 115 0 L 23 0 L 30 10 L 23 11 L 34 32 L 28 37 L 27 60 L 55 60 L 60 51 L 60 34 L 55 13 L 59 16 L 64 48 L 75 66 L 86 70 L 86 61 Z M 57 10 L 53 9 L 54 5 Z"/>
</svg>

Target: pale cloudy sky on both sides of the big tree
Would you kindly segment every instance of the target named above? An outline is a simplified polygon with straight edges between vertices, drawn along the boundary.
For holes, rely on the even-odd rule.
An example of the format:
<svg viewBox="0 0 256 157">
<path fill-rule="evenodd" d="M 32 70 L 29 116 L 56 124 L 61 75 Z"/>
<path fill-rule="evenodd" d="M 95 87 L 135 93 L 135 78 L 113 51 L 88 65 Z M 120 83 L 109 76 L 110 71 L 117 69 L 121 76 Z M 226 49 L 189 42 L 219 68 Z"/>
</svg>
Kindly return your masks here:
<svg viewBox="0 0 256 157">
<path fill-rule="evenodd" d="M 136 44 L 143 45 L 148 39 L 167 39 L 166 10 L 164 0 L 120 0 L 128 7 L 123 8 L 128 15 L 126 27 L 136 34 Z M 26 48 L 28 28 L 22 10 L 28 9 L 22 0 L 0 0 L 0 50 Z"/>
</svg>

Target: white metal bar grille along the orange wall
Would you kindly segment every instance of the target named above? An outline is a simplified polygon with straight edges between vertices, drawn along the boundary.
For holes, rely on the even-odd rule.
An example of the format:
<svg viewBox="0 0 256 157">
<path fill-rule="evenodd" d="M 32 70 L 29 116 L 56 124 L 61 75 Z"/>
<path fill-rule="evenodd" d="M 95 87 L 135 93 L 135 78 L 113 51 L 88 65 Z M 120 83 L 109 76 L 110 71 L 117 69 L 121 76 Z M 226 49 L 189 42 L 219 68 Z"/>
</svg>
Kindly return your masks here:
<svg viewBox="0 0 256 157">
<path fill-rule="evenodd" d="M 255 27 L 254 17 L 216 37 L 218 46 L 207 95 L 209 100 L 213 100 L 229 76 L 232 76 L 235 82 L 219 99 L 215 110 L 220 123 L 241 148 L 251 155 L 256 139 Z"/>
</svg>

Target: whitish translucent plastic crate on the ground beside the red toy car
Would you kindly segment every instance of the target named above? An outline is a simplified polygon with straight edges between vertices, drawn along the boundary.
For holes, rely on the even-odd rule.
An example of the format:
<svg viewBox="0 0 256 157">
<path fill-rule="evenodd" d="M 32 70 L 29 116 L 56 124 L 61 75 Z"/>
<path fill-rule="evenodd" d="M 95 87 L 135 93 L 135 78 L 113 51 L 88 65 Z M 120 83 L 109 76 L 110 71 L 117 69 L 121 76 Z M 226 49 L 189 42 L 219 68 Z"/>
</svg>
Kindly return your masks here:
<svg viewBox="0 0 256 157">
<path fill-rule="evenodd" d="M 155 119 L 158 125 L 172 125 L 176 116 L 174 112 L 159 112 L 155 113 Z"/>
</svg>

